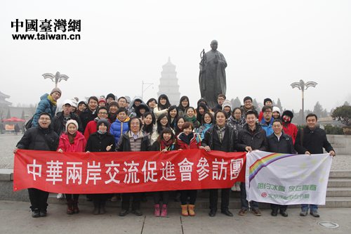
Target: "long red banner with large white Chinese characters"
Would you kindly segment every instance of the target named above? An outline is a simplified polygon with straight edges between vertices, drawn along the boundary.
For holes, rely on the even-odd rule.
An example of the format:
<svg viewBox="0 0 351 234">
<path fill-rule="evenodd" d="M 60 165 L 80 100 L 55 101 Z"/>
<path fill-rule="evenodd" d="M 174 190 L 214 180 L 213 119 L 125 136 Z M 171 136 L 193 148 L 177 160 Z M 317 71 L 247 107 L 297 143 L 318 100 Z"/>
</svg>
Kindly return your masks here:
<svg viewBox="0 0 351 234">
<path fill-rule="evenodd" d="M 52 152 L 18 150 L 13 190 L 134 193 L 230 188 L 245 181 L 245 152 Z"/>
</svg>

